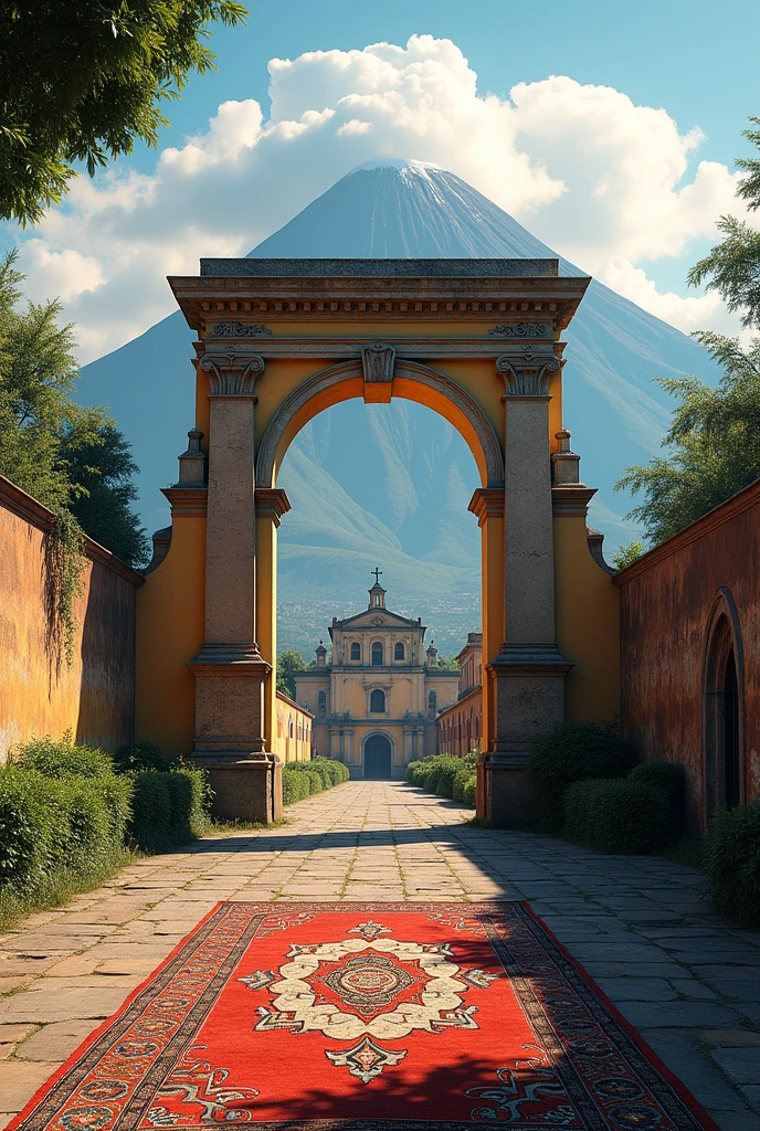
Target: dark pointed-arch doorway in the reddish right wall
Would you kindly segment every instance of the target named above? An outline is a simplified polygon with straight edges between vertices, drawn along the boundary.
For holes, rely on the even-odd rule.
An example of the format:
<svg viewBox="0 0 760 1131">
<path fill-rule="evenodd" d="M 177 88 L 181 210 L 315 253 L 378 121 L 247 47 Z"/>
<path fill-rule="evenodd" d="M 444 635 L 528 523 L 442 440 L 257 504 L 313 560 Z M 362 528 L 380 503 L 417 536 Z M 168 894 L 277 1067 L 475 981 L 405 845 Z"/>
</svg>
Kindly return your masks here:
<svg viewBox="0 0 760 1131">
<path fill-rule="evenodd" d="M 731 589 L 716 594 L 702 651 L 702 774 L 705 826 L 719 809 L 746 798 L 744 645 Z"/>
</svg>

